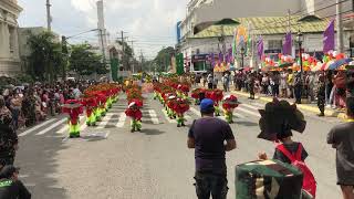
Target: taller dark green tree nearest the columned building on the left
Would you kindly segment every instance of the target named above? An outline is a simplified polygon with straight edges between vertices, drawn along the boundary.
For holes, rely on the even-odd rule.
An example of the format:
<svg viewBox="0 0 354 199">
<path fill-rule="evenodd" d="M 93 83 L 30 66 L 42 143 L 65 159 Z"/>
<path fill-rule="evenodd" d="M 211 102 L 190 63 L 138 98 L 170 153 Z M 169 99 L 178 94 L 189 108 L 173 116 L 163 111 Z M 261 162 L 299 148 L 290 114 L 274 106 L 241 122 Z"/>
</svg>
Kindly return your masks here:
<svg viewBox="0 0 354 199">
<path fill-rule="evenodd" d="M 31 50 L 29 74 L 39 81 L 56 80 L 58 72 L 62 70 L 63 55 L 61 44 L 55 42 L 54 34 L 30 34 L 28 44 Z"/>
</svg>

